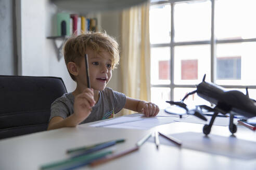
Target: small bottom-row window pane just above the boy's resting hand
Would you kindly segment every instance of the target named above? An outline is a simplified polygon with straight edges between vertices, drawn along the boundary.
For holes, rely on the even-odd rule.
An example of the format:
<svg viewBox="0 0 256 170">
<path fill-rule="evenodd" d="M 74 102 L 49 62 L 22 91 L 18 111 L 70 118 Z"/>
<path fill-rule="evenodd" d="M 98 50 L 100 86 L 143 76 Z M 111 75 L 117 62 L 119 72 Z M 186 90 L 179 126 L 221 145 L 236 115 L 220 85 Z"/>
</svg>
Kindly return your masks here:
<svg viewBox="0 0 256 170">
<path fill-rule="evenodd" d="M 170 88 L 151 88 L 151 102 L 159 106 L 160 109 L 165 109 L 170 104 L 165 101 L 170 101 Z"/>
</svg>

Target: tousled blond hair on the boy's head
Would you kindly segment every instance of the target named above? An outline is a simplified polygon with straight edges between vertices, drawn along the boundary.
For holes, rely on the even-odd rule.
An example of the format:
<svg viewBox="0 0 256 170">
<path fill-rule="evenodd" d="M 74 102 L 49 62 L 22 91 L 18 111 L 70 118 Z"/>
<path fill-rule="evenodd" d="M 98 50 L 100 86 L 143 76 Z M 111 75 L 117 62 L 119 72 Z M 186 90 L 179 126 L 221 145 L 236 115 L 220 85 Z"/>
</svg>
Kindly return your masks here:
<svg viewBox="0 0 256 170">
<path fill-rule="evenodd" d="M 88 48 L 91 48 L 96 53 L 100 52 L 100 48 L 106 50 L 111 55 L 111 68 L 114 69 L 118 65 L 119 45 L 117 41 L 106 33 L 100 32 L 90 32 L 70 37 L 63 47 L 66 65 L 68 65 L 69 62 L 74 62 L 80 66 L 81 59 L 84 58 Z M 75 81 L 75 77 L 72 74 L 70 74 L 70 76 Z"/>
</svg>

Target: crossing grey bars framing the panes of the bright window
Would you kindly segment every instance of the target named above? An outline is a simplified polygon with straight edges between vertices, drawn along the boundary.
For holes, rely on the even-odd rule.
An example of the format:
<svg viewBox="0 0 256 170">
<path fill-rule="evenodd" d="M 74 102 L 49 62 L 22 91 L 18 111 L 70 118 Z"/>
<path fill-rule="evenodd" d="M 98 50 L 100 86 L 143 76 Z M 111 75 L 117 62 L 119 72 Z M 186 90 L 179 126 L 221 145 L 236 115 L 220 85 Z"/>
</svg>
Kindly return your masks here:
<svg viewBox="0 0 256 170">
<path fill-rule="evenodd" d="M 170 47 L 170 84 L 151 84 L 150 88 L 170 88 L 170 99 L 174 100 L 174 88 L 195 88 L 195 84 L 174 84 L 174 47 L 175 46 L 187 46 L 187 45 L 210 45 L 211 51 L 211 82 L 216 83 L 216 45 L 217 44 L 228 44 L 228 43 L 247 43 L 256 42 L 256 38 L 248 39 L 221 39 L 217 40 L 214 36 L 214 13 L 215 13 L 215 0 L 209 0 L 211 2 L 211 39 L 206 41 L 186 41 L 176 42 L 174 41 L 174 4 L 177 2 L 187 1 L 201 1 L 201 0 L 169 0 L 169 1 L 158 1 L 150 3 L 150 6 L 170 4 L 171 5 L 171 41 L 165 44 L 150 44 L 150 48 L 155 47 Z M 200 79 L 200 78 L 199 78 Z M 256 89 L 256 85 L 243 86 L 243 85 L 221 85 L 223 88 L 228 89 Z"/>
</svg>

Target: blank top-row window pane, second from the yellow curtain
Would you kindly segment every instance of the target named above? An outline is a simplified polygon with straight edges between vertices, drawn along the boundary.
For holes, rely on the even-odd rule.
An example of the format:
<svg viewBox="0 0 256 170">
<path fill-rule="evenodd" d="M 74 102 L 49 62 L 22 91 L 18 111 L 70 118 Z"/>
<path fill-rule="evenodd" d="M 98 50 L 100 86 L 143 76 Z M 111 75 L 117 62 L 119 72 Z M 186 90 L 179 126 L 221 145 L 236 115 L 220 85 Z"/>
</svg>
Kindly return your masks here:
<svg viewBox="0 0 256 170">
<path fill-rule="evenodd" d="M 174 6 L 174 40 L 198 41 L 211 38 L 211 2 L 195 1 Z"/>
</svg>

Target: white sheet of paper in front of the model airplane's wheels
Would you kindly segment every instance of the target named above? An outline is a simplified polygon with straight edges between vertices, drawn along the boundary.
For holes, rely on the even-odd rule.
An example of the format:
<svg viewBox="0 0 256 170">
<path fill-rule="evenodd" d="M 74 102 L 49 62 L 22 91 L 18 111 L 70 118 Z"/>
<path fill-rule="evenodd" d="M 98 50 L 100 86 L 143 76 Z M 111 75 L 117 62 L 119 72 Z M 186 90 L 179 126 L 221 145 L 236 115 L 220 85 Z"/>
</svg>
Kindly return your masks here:
<svg viewBox="0 0 256 170">
<path fill-rule="evenodd" d="M 203 133 L 195 132 L 176 133 L 170 136 L 182 141 L 181 148 L 219 154 L 237 159 L 248 160 L 256 158 L 256 142 L 254 141 L 238 139 L 233 136 L 225 137 L 213 134 L 205 136 Z M 162 136 L 159 136 L 159 140 L 160 147 L 161 145 L 177 147 L 177 145 Z M 154 143 L 155 139 L 151 137 L 148 141 Z"/>
</svg>

